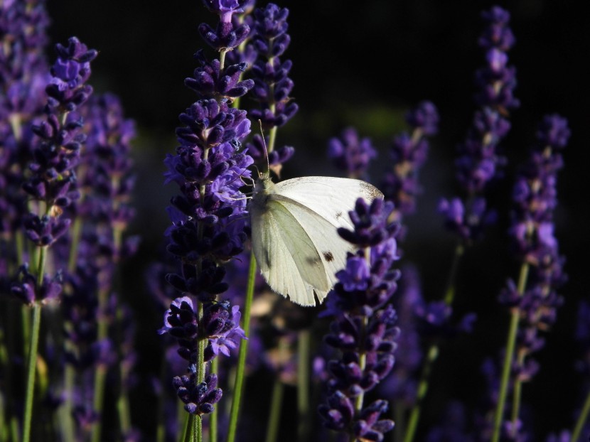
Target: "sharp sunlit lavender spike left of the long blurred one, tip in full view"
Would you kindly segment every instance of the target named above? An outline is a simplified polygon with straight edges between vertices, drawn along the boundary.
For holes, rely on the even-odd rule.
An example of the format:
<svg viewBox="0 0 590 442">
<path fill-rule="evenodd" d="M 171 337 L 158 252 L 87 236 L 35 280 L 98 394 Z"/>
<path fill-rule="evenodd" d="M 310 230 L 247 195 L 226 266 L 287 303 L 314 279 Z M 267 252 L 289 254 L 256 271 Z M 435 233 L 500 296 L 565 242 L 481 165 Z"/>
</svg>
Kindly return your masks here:
<svg viewBox="0 0 590 442">
<path fill-rule="evenodd" d="M 88 50 L 77 38 L 70 38 L 68 46 L 55 46 L 58 59 L 51 68 L 53 77 L 45 91 L 48 104 L 46 119 L 33 132 L 41 143 L 33 150 L 31 175 L 23 183 L 29 198 L 36 201 L 23 227 L 26 236 L 37 247 L 48 247 L 68 231 L 71 219 L 62 217 L 64 210 L 79 198 L 75 168 L 80 163 L 80 147 L 85 142 L 82 119 L 72 112 L 92 93 L 85 85 L 90 77 L 90 61 L 96 50 Z M 39 293 L 43 288 L 38 287 Z M 18 291 L 18 286 L 14 287 Z M 36 300 L 41 301 L 42 298 Z"/>
</svg>

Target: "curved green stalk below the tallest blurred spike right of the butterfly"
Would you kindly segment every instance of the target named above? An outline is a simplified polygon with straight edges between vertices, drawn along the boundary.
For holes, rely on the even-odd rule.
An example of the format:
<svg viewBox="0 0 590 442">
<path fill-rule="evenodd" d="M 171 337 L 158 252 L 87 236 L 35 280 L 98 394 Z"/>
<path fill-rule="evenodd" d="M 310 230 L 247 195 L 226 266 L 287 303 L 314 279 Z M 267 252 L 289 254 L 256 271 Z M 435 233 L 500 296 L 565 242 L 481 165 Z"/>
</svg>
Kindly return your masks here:
<svg viewBox="0 0 590 442">
<path fill-rule="evenodd" d="M 449 271 L 449 281 L 447 281 L 446 291 L 444 295 L 444 302 L 447 306 L 451 306 L 455 298 L 455 279 L 457 275 L 458 264 L 461 261 L 461 257 L 463 257 L 464 252 L 465 248 L 463 247 L 463 244 L 457 244 L 457 247 L 455 248 L 453 262 L 451 264 L 451 269 Z M 420 379 L 418 382 L 416 404 L 412 406 L 412 411 L 409 414 L 407 431 L 404 435 L 404 442 L 414 441 L 414 436 L 416 435 L 416 431 L 418 429 L 420 414 L 422 412 L 422 401 L 424 401 L 424 398 L 428 393 L 430 373 L 432 372 L 434 362 L 436 362 L 436 359 L 439 357 L 439 351 L 440 346 L 438 340 L 432 343 L 429 349 L 427 350 L 426 359 L 424 360 L 424 365 L 422 366 L 422 373 L 420 374 Z"/>
</svg>

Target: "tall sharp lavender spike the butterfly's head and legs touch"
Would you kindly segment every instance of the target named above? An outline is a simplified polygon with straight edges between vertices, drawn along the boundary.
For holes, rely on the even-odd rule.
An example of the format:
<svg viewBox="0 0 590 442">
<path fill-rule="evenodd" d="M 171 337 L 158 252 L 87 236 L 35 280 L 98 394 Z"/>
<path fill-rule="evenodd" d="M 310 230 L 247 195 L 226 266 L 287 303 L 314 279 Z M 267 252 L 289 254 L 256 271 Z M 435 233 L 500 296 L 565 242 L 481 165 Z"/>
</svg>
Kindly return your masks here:
<svg viewBox="0 0 590 442">
<path fill-rule="evenodd" d="M 254 85 L 241 80 L 245 63 L 224 64 L 225 52 L 250 33 L 246 24 L 232 20 L 247 2 L 203 3 L 220 17 L 216 30 L 206 24 L 199 27 L 205 41 L 220 51 L 220 59 L 208 62 L 203 51 L 195 55 L 200 68 L 185 83 L 203 99 L 181 113 L 183 126 L 176 129 L 180 146 L 164 161 L 166 183 L 174 182 L 180 190 L 168 207 L 172 225 L 166 236 L 167 250 L 181 262 L 181 269 L 166 280 L 183 296 L 172 302 L 160 330 L 178 340 L 178 354 L 189 362 L 191 374 L 176 377 L 174 387 L 186 411 L 197 415 L 213 411 L 222 394 L 216 375 L 205 379 L 205 367 L 198 365 L 199 343 L 205 341 L 206 362 L 220 353 L 228 355 L 245 338 L 238 306 L 219 302 L 217 296 L 228 288 L 223 263 L 240 254 L 247 239 L 246 198 L 240 188 L 242 179 L 250 177 L 252 158 L 239 151 L 250 133 L 250 120 L 230 104 Z M 194 308 L 193 298 L 198 302 Z"/>
</svg>

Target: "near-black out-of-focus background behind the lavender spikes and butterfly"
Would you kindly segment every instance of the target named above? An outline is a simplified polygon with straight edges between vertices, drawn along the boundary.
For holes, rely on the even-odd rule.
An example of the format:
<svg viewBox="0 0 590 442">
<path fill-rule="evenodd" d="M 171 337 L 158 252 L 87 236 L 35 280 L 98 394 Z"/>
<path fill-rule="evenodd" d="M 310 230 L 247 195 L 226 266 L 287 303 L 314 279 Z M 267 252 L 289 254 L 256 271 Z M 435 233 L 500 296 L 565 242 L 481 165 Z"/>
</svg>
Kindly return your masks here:
<svg viewBox="0 0 590 442">
<path fill-rule="evenodd" d="M 581 377 L 572 369 L 577 355 L 572 333 L 576 303 L 589 293 L 590 38 L 584 2 L 281 1 L 279 6 L 291 11 L 291 46 L 282 59 L 293 61 L 292 96 L 300 110 L 279 130 L 278 143 L 296 148 L 284 178 L 338 175 L 326 159 L 326 143 L 345 126 L 355 126 L 361 136 L 373 139 L 380 152 L 380 161 L 371 170 L 378 182 L 390 140 L 404 129 L 404 112 L 422 99 L 434 102 L 441 115 L 440 132 L 431 142 L 422 171 L 424 195 L 417 213 L 407 218 L 404 260 L 414 262 L 421 271 L 424 296 L 440 298 L 454 238 L 441 229 L 436 203 L 457 191 L 455 146 L 471 123 L 473 72 L 483 65 L 476 44 L 482 28 L 480 12 L 493 4 L 512 14 L 517 43 L 509 56 L 517 68 L 515 95 L 521 107 L 510 117 L 513 130 L 503 143 L 510 161 L 507 177 L 491 197 L 500 207 L 499 225 L 468 252 L 460 271 L 463 284 L 457 309 L 476 311 L 480 320 L 473 336 L 459 339 L 441 356 L 431 389 L 433 405 L 425 410 L 424 421 L 438 420 L 446 399 L 473 404 L 471 392 L 482 388 L 478 369 L 483 355 L 496 355 L 503 345 L 508 315 L 496 306 L 495 298 L 505 279 L 517 276 L 505 236 L 513 171 L 534 142 L 540 119 L 557 112 L 569 119 L 572 129 L 559 176 L 556 215 L 569 283 L 562 291 L 565 303 L 558 323 L 547 335 L 547 347 L 539 357 L 542 370 L 525 387 L 525 401 L 537 410 L 535 428 L 542 436 L 571 426 L 581 389 Z M 215 18 L 200 1 L 55 0 L 48 2 L 48 9 L 52 43 L 77 36 L 100 51 L 91 84 L 97 92 L 117 93 L 139 131 L 134 143 L 138 217 L 132 230 L 144 239 L 140 254 L 125 270 L 129 275 L 125 296 L 144 315 L 141 352 L 149 348 L 152 330 L 159 326 L 154 324 L 157 315 L 142 311 L 149 298 L 142 272 L 158 257 L 168 223 L 164 209 L 176 191 L 172 185 L 162 185 L 162 160 L 176 146 L 173 133 L 179 112 L 195 101 L 183 79 L 196 66 L 193 53 L 203 47 L 198 23 L 214 25 Z M 150 356 L 142 357 L 142 370 L 149 372 L 145 365 Z"/>
</svg>

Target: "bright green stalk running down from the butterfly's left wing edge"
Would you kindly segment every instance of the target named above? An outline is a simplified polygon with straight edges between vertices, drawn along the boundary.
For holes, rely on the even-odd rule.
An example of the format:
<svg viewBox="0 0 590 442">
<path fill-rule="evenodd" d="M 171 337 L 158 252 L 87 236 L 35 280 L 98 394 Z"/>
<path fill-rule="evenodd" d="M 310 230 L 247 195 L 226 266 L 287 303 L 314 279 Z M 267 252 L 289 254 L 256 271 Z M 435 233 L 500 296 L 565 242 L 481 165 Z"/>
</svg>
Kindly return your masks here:
<svg viewBox="0 0 590 442">
<path fill-rule="evenodd" d="M 246 336 L 250 335 L 250 308 L 252 307 L 252 299 L 254 298 L 254 280 L 256 279 L 256 259 L 254 253 L 250 254 L 250 270 L 248 274 L 248 287 L 246 290 L 246 299 L 242 318 L 243 329 Z M 244 389 L 244 377 L 246 369 L 246 355 L 248 352 L 248 341 L 242 340 L 240 343 L 240 352 L 237 357 L 237 368 L 235 373 L 235 387 L 234 398 L 232 401 L 232 410 L 230 412 L 230 426 L 227 431 L 227 442 L 235 441 L 235 434 L 237 431 L 237 418 L 240 414 L 240 401 L 242 399 L 242 391 Z"/>
</svg>

